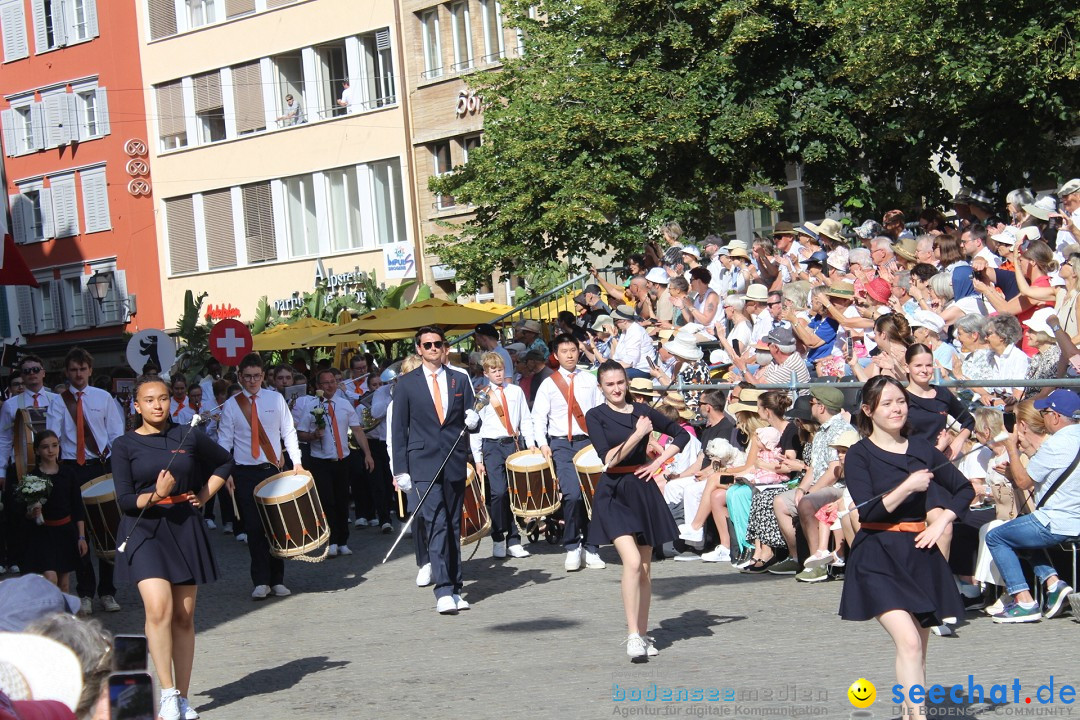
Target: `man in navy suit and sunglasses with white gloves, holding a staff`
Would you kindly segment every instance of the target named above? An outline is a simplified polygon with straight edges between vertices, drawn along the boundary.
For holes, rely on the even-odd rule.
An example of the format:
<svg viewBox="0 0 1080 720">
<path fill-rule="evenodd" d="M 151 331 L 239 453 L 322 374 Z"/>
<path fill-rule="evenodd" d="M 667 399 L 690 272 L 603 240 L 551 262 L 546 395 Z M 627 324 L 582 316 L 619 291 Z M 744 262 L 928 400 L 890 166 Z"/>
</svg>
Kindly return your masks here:
<svg viewBox="0 0 1080 720">
<path fill-rule="evenodd" d="M 461 598 L 460 545 L 469 443 L 461 437 L 467 429 L 480 427 L 480 416 L 469 378 L 443 365 L 445 347 L 442 328 L 417 330 L 416 352 L 423 364 L 397 378 L 391 432 L 394 484 L 405 491 L 416 485 L 422 497 L 434 483 L 418 512 L 428 533 L 435 610 L 453 615 L 469 609 Z"/>
</svg>

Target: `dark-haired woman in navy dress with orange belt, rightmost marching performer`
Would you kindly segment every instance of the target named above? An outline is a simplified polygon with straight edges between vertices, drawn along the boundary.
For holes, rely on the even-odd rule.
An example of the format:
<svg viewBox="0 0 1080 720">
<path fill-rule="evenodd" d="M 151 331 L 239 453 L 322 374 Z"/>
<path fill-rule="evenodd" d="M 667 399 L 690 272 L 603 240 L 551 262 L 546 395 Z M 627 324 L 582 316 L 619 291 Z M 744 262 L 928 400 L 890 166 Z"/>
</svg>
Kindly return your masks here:
<svg viewBox="0 0 1080 720">
<path fill-rule="evenodd" d="M 940 450 L 908 436 L 907 410 L 907 394 L 894 378 L 879 376 L 863 388 L 856 422 L 864 439 L 848 450 L 843 475 L 854 502 L 866 504 L 848 556 L 840 616 L 881 623 L 896 646 L 904 717 L 921 717 L 924 708 L 908 699 L 908 690 L 926 687 L 930 628 L 963 616 L 936 543 L 974 491 Z M 928 507 L 940 508 L 929 525 Z"/>
</svg>

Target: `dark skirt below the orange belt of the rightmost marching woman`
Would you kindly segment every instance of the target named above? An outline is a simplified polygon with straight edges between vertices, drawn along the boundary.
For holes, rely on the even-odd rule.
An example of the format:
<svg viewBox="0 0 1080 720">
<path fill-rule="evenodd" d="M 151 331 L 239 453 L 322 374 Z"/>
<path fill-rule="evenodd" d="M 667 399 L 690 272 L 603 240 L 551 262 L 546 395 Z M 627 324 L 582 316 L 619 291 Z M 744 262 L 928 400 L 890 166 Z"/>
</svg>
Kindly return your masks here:
<svg viewBox="0 0 1080 720">
<path fill-rule="evenodd" d="M 915 546 L 915 532 L 861 530 L 851 544 L 840 597 L 843 620 L 870 620 L 906 610 L 923 627 L 963 617 L 963 600 L 948 562 L 932 545 Z"/>
</svg>

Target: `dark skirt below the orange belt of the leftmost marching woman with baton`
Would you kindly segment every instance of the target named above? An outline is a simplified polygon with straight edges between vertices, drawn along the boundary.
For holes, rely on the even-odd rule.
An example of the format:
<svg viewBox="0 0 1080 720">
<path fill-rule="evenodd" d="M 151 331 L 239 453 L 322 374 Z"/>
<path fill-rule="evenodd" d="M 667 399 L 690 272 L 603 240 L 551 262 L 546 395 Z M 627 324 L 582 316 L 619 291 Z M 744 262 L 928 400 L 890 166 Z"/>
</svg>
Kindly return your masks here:
<svg viewBox="0 0 1080 720">
<path fill-rule="evenodd" d="M 134 531 L 133 531 L 134 529 Z M 202 516 L 188 503 L 148 510 L 120 519 L 119 542 L 131 532 L 123 553 L 117 553 L 116 581 L 134 585 L 149 578 L 173 584 L 202 585 L 217 580 L 217 563 Z"/>
</svg>

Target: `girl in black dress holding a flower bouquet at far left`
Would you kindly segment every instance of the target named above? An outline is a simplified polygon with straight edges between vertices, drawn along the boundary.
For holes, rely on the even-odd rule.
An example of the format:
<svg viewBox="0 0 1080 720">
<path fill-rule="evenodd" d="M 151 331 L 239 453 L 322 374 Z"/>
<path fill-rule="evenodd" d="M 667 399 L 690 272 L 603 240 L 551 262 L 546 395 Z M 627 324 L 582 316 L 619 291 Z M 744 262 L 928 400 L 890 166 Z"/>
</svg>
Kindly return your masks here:
<svg viewBox="0 0 1080 720">
<path fill-rule="evenodd" d="M 68 592 L 69 573 L 86 554 L 86 528 L 79 479 L 59 464 L 60 441 L 56 433 L 43 430 L 33 436 L 38 466 L 30 474 L 53 481 L 44 505 L 27 512 L 24 572 L 37 572 L 63 592 Z M 42 524 L 38 525 L 38 518 Z"/>
</svg>

